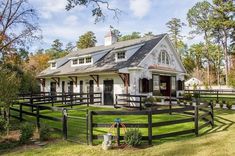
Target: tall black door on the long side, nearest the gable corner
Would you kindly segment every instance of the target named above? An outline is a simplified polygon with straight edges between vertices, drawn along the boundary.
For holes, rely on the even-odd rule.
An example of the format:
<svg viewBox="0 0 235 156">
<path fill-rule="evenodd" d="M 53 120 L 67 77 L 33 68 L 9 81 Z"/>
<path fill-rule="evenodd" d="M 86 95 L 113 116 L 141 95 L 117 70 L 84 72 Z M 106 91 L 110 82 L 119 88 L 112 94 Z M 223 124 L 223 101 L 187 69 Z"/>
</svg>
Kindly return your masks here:
<svg viewBox="0 0 235 156">
<path fill-rule="evenodd" d="M 113 105 L 113 80 L 104 80 L 104 104 Z"/>
</svg>

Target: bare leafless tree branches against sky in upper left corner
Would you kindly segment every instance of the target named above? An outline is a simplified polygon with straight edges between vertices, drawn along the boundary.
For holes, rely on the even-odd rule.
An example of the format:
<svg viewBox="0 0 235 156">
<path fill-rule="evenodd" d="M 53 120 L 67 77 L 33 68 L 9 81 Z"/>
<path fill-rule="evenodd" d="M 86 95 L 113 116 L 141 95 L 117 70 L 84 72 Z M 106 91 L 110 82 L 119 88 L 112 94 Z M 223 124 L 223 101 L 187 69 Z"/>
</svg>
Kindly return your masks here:
<svg viewBox="0 0 235 156">
<path fill-rule="evenodd" d="M 27 0 L 3 0 L 0 4 L 0 53 L 39 39 L 37 21 L 36 11 Z"/>
</svg>

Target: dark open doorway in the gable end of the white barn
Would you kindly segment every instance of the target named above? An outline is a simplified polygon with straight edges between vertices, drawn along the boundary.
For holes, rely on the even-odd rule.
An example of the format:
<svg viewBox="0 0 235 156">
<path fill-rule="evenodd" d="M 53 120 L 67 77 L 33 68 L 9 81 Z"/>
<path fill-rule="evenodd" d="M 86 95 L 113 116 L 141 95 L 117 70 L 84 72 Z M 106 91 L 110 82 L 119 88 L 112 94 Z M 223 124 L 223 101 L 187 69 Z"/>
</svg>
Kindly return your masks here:
<svg viewBox="0 0 235 156">
<path fill-rule="evenodd" d="M 170 96 L 171 94 L 171 77 L 160 76 L 160 93 L 162 96 Z"/>
</svg>

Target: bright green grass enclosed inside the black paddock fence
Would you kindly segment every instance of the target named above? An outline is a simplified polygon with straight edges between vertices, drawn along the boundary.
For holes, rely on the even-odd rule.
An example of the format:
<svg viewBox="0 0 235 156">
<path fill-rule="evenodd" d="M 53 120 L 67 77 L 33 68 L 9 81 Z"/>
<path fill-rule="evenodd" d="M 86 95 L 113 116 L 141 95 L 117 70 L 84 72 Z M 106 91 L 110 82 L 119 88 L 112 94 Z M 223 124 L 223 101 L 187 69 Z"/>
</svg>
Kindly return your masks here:
<svg viewBox="0 0 235 156">
<path fill-rule="evenodd" d="M 16 106 L 17 107 L 17 106 Z M 86 106 L 75 106 L 74 108 L 80 109 L 80 110 L 69 110 L 68 115 L 69 116 L 79 116 L 79 117 L 85 117 L 86 111 L 83 111 L 85 109 L 89 110 L 115 110 L 114 108 L 104 108 L 104 107 L 86 107 Z M 31 111 L 30 107 L 23 106 L 24 110 Z M 120 109 L 119 109 L 120 110 Z M 13 112 L 11 114 L 14 114 L 16 112 Z M 42 115 L 47 115 L 51 117 L 57 117 L 57 118 L 62 118 L 62 113 L 61 111 L 50 111 L 50 110 L 42 110 L 40 111 L 40 114 Z M 17 114 L 15 114 L 17 115 Z M 183 119 L 183 118 L 189 118 L 190 116 L 187 115 L 181 115 L 181 114 L 174 114 L 174 115 L 169 115 L 169 114 L 160 114 L 160 115 L 153 115 L 152 116 L 152 121 L 153 122 L 161 122 L 161 121 L 169 121 L 169 120 L 175 120 L 175 119 Z M 32 121 L 36 122 L 36 118 L 28 115 L 23 115 L 24 119 L 27 119 L 27 121 Z M 147 115 L 122 115 L 122 116 L 117 116 L 117 115 L 100 115 L 100 116 L 94 116 L 93 117 L 93 122 L 94 123 L 109 123 L 113 124 L 114 120 L 116 118 L 121 118 L 121 121 L 125 123 L 147 123 Z M 47 124 L 50 125 L 53 128 L 57 129 L 62 129 L 62 122 L 55 122 L 55 121 L 49 121 L 45 119 L 40 119 L 40 123 L 42 124 Z M 73 141 L 82 141 L 86 142 L 86 122 L 84 119 L 74 119 L 74 118 L 69 118 L 68 119 L 68 139 L 71 139 Z M 175 132 L 175 131 L 181 131 L 181 130 L 188 130 L 188 129 L 193 129 L 194 128 L 194 123 L 193 122 L 188 122 L 188 123 L 183 123 L 183 124 L 176 124 L 176 125 L 171 125 L 171 126 L 162 126 L 162 127 L 157 127 L 153 128 L 153 135 L 156 134 L 163 134 L 163 133 L 170 133 L 170 132 Z M 144 136 L 148 135 L 148 129 L 147 128 L 139 128 L 140 131 Z M 103 135 L 106 134 L 107 132 L 112 132 L 113 135 L 115 135 L 115 129 L 110 129 L 110 127 L 106 128 L 94 128 L 94 135 Z M 121 130 L 121 134 L 123 135 L 125 132 L 124 130 Z M 60 133 L 61 134 L 61 133 Z M 161 140 L 154 141 L 154 143 L 159 144 L 161 142 L 169 141 L 169 140 L 178 140 L 180 138 L 188 138 L 188 137 L 195 137 L 194 134 L 189 134 L 186 136 L 177 136 L 177 137 L 172 137 L 172 138 L 165 138 Z M 100 144 L 101 141 L 94 140 L 96 144 Z"/>
</svg>

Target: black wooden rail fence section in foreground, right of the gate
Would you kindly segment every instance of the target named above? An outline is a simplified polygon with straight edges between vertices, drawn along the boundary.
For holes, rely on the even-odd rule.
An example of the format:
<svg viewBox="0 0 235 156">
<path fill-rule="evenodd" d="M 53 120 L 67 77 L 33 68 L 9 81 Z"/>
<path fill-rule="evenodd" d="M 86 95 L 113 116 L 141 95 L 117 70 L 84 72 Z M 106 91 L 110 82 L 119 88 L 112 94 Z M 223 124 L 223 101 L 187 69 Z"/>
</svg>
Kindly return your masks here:
<svg viewBox="0 0 235 156">
<path fill-rule="evenodd" d="M 188 112 L 191 111 L 191 112 Z M 202 115 L 199 115 L 199 112 L 205 112 Z M 187 113 L 188 112 L 188 113 Z M 159 115 L 159 114 L 169 114 L 169 113 L 186 113 L 189 116 L 187 116 L 184 119 L 176 119 L 171 121 L 163 121 L 163 122 L 153 122 L 152 121 L 152 115 Z M 129 127 L 137 127 L 137 128 L 147 128 L 148 129 L 148 135 L 143 136 L 143 140 L 148 140 L 149 144 L 152 144 L 152 140 L 155 139 L 161 139 L 165 137 L 174 137 L 178 135 L 184 135 L 184 134 L 190 134 L 195 133 L 197 136 L 199 134 L 199 130 L 211 125 L 213 126 L 214 123 L 214 116 L 213 116 L 213 106 L 212 103 L 204 103 L 202 105 L 198 106 L 185 106 L 182 108 L 172 108 L 172 109 L 162 109 L 162 110 L 144 110 L 144 111 L 90 111 L 89 112 L 89 143 L 92 145 L 93 140 L 95 139 L 102 139 L 103 137 L 101 135 L 94 134 L 94 128 L 107 128 L 111 127 L 112 124 L 109 123 L 97 123 L 94 122 L 95 116 L 98 115 L 118 115 L 119 117 L 124 115 L 143 115 L 147 116 L 148 122 L 147 123 L 124 123 L 126 128 Z M 208 119 L 209 118 L 209 119 Z M 205 121 L 203 125 L 200 125 L 200 120 Z M 153 134 L 153 129 L 160 127 L 160 126 L 169 126 L 169 125 L 175 125 L 175 124 L 182 124 L 187 122 L 194 122 L 194 128 L 193 129 L 186 129 L 181 130 L 177 132 L 171 132 L 171 133 L 165 133 L 165 134 Z M 120 140 L 124 139 L 124 136 L 120 136 L 120 128 L 121 125 L 117 123 L 115 125 L 117 128 L 117 142 L 120 143 Z"/>
</svg>

